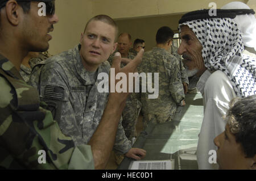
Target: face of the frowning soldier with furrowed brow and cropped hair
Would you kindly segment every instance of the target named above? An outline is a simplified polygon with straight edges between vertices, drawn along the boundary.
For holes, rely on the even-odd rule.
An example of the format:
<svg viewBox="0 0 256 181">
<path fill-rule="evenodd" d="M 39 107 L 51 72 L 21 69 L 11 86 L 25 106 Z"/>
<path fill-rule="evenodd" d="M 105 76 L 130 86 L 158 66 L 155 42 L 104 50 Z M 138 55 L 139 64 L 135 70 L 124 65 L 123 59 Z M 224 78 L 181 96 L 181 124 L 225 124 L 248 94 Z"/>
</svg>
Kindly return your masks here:
<svg viewBox="0 0 256 181">
<path fill-rule="evenodd" d="M 96 70 L 102 62 L 108 60 L 117 48 L 114 40 L 115 27 L 99 20 L 92 20 L 80 40 L 80 55 L 85 68 Z"/>
</svg>

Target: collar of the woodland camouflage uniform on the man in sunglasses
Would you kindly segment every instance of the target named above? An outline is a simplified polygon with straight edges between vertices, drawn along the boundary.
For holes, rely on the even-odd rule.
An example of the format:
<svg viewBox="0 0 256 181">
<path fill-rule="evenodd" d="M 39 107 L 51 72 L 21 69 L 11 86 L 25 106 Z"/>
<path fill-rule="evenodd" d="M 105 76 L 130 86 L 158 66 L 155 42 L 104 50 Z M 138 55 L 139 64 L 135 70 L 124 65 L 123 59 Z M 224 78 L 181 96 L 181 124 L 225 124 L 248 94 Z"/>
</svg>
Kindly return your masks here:
<svg viewBox="0 0 256 181">
<path fill-rule="evenodd" d="M 10 62 L 7 58 L 3 57 L 0 54 L 0 68 L 5 71 L 6 74 L 10 75 L 10 77 L 16 79 L 22 79 L 19 71 L 15 68 L 12 62 Z"/>
</svg>

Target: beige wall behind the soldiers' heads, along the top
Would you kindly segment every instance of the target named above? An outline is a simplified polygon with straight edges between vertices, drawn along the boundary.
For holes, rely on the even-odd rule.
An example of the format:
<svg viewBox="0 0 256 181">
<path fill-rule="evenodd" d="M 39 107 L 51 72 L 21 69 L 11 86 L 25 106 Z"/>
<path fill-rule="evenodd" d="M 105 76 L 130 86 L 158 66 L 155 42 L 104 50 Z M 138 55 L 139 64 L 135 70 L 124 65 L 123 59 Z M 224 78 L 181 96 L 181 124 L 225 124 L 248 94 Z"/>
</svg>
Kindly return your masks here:
<svg viewBox="0 0 256 181">
<path fill-rule="evenodd" d="M 236 0 L 248 3 L 256 9 L 256 0 Z M 177 30 L 182 14 L 192 10 L 208 8 L 215 2 L 217 8 L 232 0 L 56 0 L 59 23 L 51 34 L 49 53 L 57 54 L 73 48 L 79 43 L 86 22 L 94 15 L 107 14 L 117 21 L 120 32 L 129 32 L 133 40 L 146 40 L 146 50 L 155 45 L 155 34 L 159 27 L 170 26 Z"/>
</svg>

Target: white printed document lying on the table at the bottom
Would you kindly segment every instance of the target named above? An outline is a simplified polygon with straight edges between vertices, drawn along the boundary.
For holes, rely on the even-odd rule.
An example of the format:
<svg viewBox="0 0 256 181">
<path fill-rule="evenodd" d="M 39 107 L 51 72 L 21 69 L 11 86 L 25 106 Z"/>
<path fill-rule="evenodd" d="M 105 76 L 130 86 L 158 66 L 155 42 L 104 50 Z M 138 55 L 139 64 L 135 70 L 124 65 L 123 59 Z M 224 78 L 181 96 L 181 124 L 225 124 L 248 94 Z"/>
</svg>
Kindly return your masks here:
<svg viewBox="0 0 256 181">
<path fill-rule="evenodd" d="M 174 170 L 174 160 L 133 161 L 129 170 Z"/>
</svg>

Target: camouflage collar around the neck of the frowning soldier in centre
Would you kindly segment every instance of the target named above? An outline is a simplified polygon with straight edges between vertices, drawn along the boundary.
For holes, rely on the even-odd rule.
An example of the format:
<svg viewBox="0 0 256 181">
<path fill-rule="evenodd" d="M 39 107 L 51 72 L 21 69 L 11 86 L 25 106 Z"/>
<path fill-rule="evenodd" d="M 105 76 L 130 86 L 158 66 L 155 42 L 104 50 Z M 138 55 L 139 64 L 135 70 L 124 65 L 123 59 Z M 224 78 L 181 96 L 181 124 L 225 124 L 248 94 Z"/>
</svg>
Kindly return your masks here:
<svg viewBox="0 0 256 181">
<path fill-rule="evenodd" d="M 81 45 L 77 45 L 74 49 L 74 59 L 76 60 L 76 64 L 75 68 L 77 73 L 79 74 L 79 76 L 82 78 L 84 85 L 94 85 L 94 83 L 96 82 L 96 79 L 94 78 L 94 76 L 92 76 L 92 73 L 90 73 L 89 71 L 87 71 L 84 66 L 82 65 L 82 58 L 80 56 L 80 49 L 81 49 Z M 96 70 L 95 74 L 97 74 L 97 72 L 101 71 L 101 66 L 98 67 L 98 69 Z M 96 76 L 97 78 L 97 76 Z"/>
</svg>

